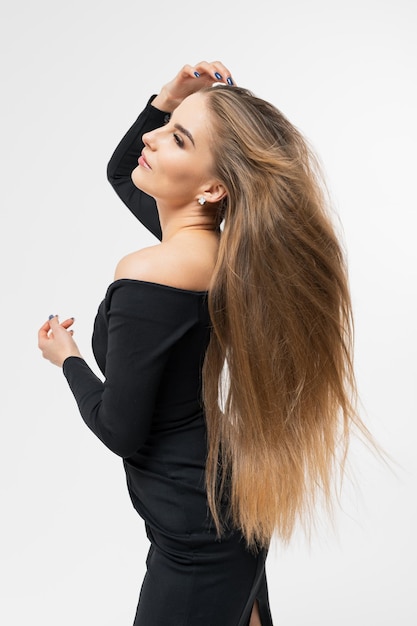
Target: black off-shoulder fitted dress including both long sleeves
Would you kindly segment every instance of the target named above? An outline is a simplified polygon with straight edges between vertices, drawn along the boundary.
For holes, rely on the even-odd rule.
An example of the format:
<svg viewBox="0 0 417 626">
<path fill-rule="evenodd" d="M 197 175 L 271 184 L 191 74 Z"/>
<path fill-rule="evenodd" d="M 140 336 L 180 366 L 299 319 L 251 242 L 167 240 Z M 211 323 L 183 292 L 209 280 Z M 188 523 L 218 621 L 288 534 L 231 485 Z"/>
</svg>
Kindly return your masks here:
<svg viewBox="0 0 417 626">
<path fill-rule="evenodd" d="M 156 236 L 155 202 L 130 173 L 142 134 L 164 123 L 149 103 L 109 163 L 111 183 Z M 210 337 L 207 293 L 146 281 L 112 283 L 94 324 L 102 382 L 83 359 L 63 371 L 89 428 L 123 458 L 133 506 L 151 547 L 135 626 L 247 626 L 255 599 L 271 626 L 266 551 L 237 530 L 219 540 L 204 486 L 201 368 Z"/>
</svg>

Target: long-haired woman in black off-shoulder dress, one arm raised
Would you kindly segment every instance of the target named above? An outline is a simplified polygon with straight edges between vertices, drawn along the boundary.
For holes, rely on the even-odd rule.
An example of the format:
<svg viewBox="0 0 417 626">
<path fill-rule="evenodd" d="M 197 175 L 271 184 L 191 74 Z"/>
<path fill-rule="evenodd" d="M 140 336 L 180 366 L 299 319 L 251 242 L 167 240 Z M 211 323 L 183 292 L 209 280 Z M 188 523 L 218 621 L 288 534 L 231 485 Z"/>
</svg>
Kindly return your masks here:
<svg viewBox="0 0 417 626">
<path fill-rule="evenodd" d="M 220 83 L 214 85 L 213 83 Z M 123 457 L 151 542 L 135 625 L 268 626 L 265 559 L 331 501 L 353 424 L 343 254 L 314 159 L 220 62 L 185 66 L 109 180 L 160 240 L 118 264 L 95 321 L 39 331 L 91 430 Z"/>
</svg>

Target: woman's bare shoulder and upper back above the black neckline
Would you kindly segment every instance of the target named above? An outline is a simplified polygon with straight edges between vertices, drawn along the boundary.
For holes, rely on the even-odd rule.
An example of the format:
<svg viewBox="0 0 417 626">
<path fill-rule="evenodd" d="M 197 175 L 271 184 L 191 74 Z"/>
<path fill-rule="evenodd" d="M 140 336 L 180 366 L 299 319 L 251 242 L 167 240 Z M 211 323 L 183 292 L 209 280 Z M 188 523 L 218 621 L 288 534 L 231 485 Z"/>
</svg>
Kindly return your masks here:
<svg viewBox="0 0 417 626">
<path fill-rule="evenodd" d="M 199 245 L 198 240 L 169 241 L 132 252 L 119 261 L 115 280 L 129 278 L 178 289 L 208 289 L 217 256 L 217 246 Z M 200 242 L 201 244 L 201 242 Z"/>
</svg>

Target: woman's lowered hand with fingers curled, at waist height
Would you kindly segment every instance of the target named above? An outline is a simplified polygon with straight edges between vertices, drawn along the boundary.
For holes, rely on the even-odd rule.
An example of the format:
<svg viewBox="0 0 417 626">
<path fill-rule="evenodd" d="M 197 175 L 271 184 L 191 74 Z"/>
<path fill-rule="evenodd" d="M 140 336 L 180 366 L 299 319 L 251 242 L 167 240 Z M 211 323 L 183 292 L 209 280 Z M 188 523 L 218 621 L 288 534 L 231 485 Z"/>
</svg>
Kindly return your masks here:
<svg viewBox="0 0 417 626">
<path fill-rule="evenodd" d="M 39 329 L 38 347 L 42 356 L 58 367 L 62 367 L 65 359 L 69 356 L 82 358 L 72 337 L 74 331 L 68 330 L 73 323 L 74 318 L 70 318 L 60 324 L 58 316 L 55 315 Z"/>
</svg>

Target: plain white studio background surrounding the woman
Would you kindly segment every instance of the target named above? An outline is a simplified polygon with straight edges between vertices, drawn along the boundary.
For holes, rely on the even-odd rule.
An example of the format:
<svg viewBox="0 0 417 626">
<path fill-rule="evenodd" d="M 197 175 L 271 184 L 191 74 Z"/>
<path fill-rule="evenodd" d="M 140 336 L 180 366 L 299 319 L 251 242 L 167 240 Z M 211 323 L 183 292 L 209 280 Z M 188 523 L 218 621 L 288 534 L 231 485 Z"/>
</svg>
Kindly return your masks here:
<svg viewBox="0 0 417 626">
<path fill-rule="evenodd" d="M 85 427 L 38 327 L 93 318 L 121 256 L 154 243 L 105 178 L 148 97 L 220 59 L 313 143 L 344 227 L 362 416 L 336 530 L 268 560 L 280 626 L 413 626 L 416 608 L 414 0 L 16 0 L 1 9 L 4 626 L 129 626 L 148 549 L 120 459 Z M 3 3 L 6 5 L 6 3 Z M 146 626 L 146 625 L 145 625 Z M 165 626 L 165 625 L 161 625 Z M 173 625 L 174 626 L 174 625 Z"/>
</svg>

